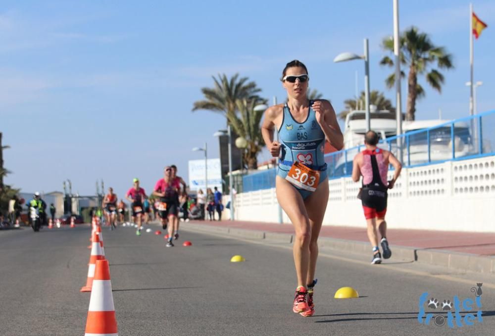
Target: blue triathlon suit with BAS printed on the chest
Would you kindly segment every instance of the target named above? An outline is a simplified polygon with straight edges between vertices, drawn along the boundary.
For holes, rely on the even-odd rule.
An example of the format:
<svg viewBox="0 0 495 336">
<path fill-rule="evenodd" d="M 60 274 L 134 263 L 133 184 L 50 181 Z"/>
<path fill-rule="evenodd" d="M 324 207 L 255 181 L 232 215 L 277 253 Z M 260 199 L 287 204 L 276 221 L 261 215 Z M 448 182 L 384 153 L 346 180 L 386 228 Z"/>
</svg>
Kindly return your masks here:
<svg viewBox="0 0 495 336">
<path fill-rule="evenodd" d="M 289 110 L 284 106 L 284 116 L 280 126 L 279 139 L 281 145 L 281 158 L 277 169 L 277 175 L 285 179 L 295 161 L 313 170 L 320 171 L 320 183 L 327 181 L 327 164 L 323 157 L 325 147 L 325 134 L 316 121 L 316 113 L 311 108 L 313 101 L 309 102 L 309 111 L 306 120 L 297 122 Z M 300 189 L 293 184 L 302 199 L 306 199 L 313 192 Z"/>
</svg>

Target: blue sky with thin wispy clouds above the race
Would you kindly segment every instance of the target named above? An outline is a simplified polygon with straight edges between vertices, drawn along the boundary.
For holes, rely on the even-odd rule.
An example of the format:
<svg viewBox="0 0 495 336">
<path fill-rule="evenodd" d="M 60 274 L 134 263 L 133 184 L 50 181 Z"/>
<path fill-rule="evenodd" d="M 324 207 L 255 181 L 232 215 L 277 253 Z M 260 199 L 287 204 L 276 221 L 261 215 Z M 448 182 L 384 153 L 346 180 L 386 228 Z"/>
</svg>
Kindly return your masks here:
<svg viewBox="0 0 495 336">
<path fill-rule="evenodd" d="M 474 1 L 488 24 L 475 41 L 478 111 L 495 108 L 495 2 Z M 103 179 L 119 196 L 139 177 L 150 191 L 165 164 L 187 178 L 192 152 L 224 127 L 213 112 L 191 112 L 212 75 L 239 72 L 266 98 L 285 99 L 278 80 L 300 59 L 310 87 L 337 112 L 363 90 L 363 62 L 333 63 L 341 52 L 362 53 L 370 40 L 372 90 L 384 91 L 390 69 L 378 62 L 392 35 L 392 0 L 364 1 L 2 1 L 0 9 L 0 131 L 5 182 L 23 191 L 94 194 Z M 400 29 L 415 25 L 453 54 L 442 95 L 427 88 L 417 119 L 468 115 L 469 1 L 399 1 Z M 420 79 L 420 83 L 424 83 Z M 402 86 L 406 93 L 405 84 Z M 404 97 L 404 96 L 403 96 Z M 403 98 L 405 109 L 405 97 Z M 260 160 L 268 159 L 263 153 Z"/>
</svg>

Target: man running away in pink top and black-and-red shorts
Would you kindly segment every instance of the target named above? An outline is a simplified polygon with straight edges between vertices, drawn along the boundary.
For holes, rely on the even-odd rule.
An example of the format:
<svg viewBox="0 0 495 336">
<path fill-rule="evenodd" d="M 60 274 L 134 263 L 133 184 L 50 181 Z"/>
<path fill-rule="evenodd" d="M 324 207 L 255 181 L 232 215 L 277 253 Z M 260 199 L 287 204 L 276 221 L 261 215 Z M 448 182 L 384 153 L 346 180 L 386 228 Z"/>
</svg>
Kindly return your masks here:
<svg viewBox="0 0 495 336">
<path fill-rule="evenodd" d="M 368 131 L 364 137 L 366 149 L 357 154 L 352 165 L 352 180 L 359 181 L 363 176 L 363 185 L 361 188 L 361 202 L 364 210 L 364 217 L 368 226 L 368 238 L 373 246 L 372 264 L 380 264 L 382 256 L 378 248 L 378 237 L 376 234 L 376 225 L 382 235 L 380 244 L 383 249 L 383 257 L 390 258 L 392 251 L 387 241 L 387 222 L 385 214 L 387 213 L 387 189 L 392 189 L 394 183 L 399 177 L 400 162 L 394 154 L 389 151 L 378 148 L 378 134 L 374 131 Z M 394 178 L 387 181 L 389 164 L 394 166 Z"/>
</svg>

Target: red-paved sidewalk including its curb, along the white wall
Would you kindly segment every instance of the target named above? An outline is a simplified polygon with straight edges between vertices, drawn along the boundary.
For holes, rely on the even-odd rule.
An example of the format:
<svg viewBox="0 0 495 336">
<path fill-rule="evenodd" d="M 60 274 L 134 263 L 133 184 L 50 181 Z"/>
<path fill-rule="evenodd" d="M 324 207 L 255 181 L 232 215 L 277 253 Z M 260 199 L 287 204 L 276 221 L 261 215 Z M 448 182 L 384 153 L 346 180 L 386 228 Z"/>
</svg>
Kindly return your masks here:
<svg viewBox="0 0 495 336">
<path fill-rule="evenodd" d="M 185 224 L 185 223 L 182 223 Z M 191 226 L 206 231 L 217 231 L 249 238 L 293 241 L 291 224 L 191 221 Z M 448 268 L 482 273 L 495 273 L 495 233 L 454 232 L 434 230 L 387 229 L 387 238 L 393 257 L 424 262 Z M 371 253 L 366 226 L 322 226 L 318 243 L 356 253 Z"/>
</svg>

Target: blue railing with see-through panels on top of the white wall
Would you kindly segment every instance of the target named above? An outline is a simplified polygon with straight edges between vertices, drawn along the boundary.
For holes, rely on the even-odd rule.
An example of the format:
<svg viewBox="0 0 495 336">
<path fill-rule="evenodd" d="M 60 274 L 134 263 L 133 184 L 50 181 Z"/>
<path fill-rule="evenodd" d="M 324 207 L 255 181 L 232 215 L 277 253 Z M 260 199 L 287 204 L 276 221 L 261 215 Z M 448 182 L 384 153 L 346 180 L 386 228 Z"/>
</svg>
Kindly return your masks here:
<svg viewBox="0 0 495 336">
<path fill-rule="evenodd" d="M 409 168 L 495 155 L 495 110 L 408 131 L 381 140 L 378 147 L 394 153 Z M 328 178 L 350 176 L 352 160 L 363 149 L 364 144 L 326 154 Z M 243 176 L 243 192 L 273 188 L 275 176 L 276 168 Z"/>
</svg>

